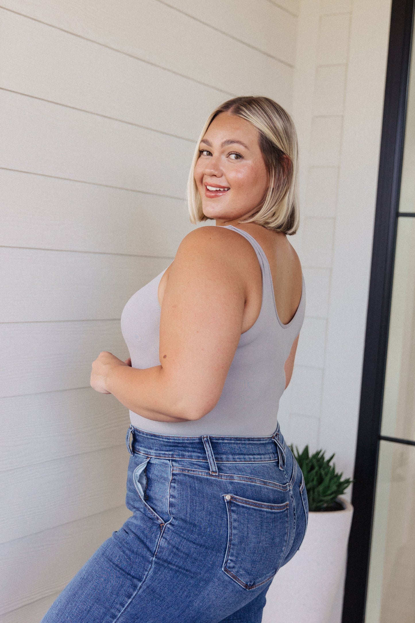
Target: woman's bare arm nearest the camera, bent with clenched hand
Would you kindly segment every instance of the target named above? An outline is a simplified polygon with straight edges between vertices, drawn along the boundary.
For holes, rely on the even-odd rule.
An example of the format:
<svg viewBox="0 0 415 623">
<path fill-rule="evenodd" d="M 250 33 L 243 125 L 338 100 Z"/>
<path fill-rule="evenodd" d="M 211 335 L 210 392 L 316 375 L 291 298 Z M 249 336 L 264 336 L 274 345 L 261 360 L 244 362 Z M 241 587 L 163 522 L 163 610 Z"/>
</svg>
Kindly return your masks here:
<svg viewBox="0 0 415 623">
<path fill-rule="evenodd" d="M 156 421 L 200 419 L 213 409 L 240 340 L 246 300 L 236 238 L 212 226 L 182 240 L 162 300 L 160 365 L 131 368 L 101 353 L 93 363 L 94 389 Z"/>
</svg>

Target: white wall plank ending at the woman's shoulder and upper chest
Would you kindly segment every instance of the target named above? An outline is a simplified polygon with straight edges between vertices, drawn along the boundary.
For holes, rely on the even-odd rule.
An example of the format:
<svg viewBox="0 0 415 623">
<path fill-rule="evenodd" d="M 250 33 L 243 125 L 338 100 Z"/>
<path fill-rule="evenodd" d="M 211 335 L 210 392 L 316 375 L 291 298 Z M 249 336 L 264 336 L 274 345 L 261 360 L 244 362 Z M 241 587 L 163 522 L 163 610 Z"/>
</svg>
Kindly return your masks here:
<svg viewBox="0 0 415 623">
<path fill-rule="evenodd" d="M 0 249 L 0 322 L 121 318 L 172 258 Z"/>
</svg>

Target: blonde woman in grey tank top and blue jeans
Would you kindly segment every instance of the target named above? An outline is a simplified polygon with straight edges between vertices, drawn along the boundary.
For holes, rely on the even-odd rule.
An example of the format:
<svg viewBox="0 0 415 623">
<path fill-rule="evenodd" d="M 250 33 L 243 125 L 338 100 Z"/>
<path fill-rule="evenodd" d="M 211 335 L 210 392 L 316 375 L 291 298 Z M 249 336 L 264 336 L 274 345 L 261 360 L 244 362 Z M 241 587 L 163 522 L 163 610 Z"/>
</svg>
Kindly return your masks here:
<svg viewBox="0 0 415 623">
<path fill-rule="evenodd" d="M 286 237 L 299 220 L 289 115 L 265 97 L 218 107 L 188 202 L 190 221 L 216 226 L 185 236 L 126 304 L 131 359 L 92 364 L 91 386 L 130 410 L 133 515 L 44 623 L 256 623 L 304 537 L 304 478 L 277 423 L 305 307 Z"/>
</svg>

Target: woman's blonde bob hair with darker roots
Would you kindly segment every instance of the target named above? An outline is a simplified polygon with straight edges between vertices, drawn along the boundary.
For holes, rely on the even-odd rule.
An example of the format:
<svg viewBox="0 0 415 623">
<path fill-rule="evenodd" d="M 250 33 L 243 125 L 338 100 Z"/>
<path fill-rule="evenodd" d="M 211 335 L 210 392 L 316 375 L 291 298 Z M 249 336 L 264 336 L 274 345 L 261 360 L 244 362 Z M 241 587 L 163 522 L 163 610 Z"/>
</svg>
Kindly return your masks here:
<svg viewBox="0 0 415 623">
<path fill-rule="evenodd" d="M 190 222 L 207 221 L 195 181 L 199 144 L 213 119 L 228 112 L 252 123 L 269 174 L 269 187 L 258 210 L 240 223 L 258 223 L 267 229 L 295 234 L 299 226 L 297 133 L 289 114 L 269 97 L 235 97 L 223 102 L 208 117 L 197 141 L 189 181 L 187 204 Z"/>
</svg>

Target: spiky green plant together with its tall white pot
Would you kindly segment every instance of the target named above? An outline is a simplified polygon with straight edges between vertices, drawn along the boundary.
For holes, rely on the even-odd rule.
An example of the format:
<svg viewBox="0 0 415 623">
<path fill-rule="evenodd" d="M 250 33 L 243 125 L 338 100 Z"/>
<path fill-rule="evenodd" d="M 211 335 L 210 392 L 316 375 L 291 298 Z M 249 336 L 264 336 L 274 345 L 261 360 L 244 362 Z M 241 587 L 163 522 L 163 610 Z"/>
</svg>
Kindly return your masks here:
<svg viewBox="0 0 415 623">
<path fill-rule="evenodd" d="M 334 454 L 329 459 L 324 450 L 310 454 L 308 445 L 302 452 L 290 449 L 304 475 L 309 521 L 299 551 L 269 587 L 263 623 L 330 623 L 343 590 L 353 516 L 342 494 L 353 481 L 336 472 Z"/>
</svg>

